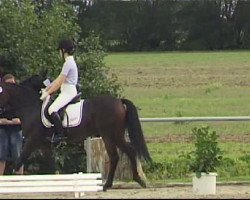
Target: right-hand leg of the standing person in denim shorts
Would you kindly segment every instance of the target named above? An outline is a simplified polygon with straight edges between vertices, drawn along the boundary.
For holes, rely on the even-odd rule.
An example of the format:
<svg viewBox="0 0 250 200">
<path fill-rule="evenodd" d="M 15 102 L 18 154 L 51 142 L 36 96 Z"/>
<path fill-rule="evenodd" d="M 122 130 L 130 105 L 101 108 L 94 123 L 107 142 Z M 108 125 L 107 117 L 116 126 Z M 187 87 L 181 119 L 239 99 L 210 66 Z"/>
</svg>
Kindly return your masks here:
<svg viewBox="0 0 250 200">
<path fill-rule="evenodd" d="M 23 136 L 22 131 L 17 129 L 16 127 L 10 127 L 9 129 L 10 134 L 10 148 L 11 148 L 11 160 L 16 162 L 17 158 L 20 157 L 21 151 L 23 148 Z M 16 174 L 23 174 L 24 166 L 21 166 Z"/>
</svg>

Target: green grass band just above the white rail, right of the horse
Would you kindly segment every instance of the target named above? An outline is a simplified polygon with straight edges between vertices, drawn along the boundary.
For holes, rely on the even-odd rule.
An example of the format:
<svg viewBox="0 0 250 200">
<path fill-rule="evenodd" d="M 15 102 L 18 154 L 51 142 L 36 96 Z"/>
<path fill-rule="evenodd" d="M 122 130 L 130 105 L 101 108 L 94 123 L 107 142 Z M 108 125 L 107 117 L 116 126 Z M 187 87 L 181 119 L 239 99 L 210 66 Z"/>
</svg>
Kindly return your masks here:
<svg viewBox="0 0 250 200">
<path fill-rule="evenodd" d="M 249 88 L 228 87 L 206 93 L 202 88 L 126 88 L 141 117 L 248 115 Z M 244 109 L 243 109 L 243 106 Z"/>
</svg>

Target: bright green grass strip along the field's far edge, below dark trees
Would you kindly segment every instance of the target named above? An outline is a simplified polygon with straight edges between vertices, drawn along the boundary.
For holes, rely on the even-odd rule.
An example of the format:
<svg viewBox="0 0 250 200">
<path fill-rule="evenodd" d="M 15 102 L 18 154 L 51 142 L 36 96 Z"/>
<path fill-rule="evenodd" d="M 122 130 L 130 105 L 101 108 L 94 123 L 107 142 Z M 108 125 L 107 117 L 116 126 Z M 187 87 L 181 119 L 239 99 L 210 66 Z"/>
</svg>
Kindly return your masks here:
<svg viewBox="0 0 250 200">
<path fill-rule="evenodd" d="M 170 68 L 183 66 L 202 66 L 203 68 L 217 68 L 217 66 L 234 66 L 249 62 L 248 51 L 213 51 L 213 52 L 132 52 L 112 53 L 106 57 L 106 64 L 115 68 L 139 67 L 156 68 L 159 66 Z M 238 66 L 239 67 L 239 66 Z"/>
</svg>

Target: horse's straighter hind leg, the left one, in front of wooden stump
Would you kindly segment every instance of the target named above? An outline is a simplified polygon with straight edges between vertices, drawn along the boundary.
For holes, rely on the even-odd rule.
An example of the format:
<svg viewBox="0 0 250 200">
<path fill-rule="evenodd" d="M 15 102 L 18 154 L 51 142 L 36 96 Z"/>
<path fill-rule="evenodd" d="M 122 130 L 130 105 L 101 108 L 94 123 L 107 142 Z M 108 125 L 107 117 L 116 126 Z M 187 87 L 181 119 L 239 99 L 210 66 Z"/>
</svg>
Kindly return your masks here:
<svg viewBox="0 0 250 200">
<path fill-rule="evenodd" d="M 119 160 L 119 156 L 117 153 L 115 142 L 112 141 L 112 139 L 110 138 L 102 138 L 102 139 L 103 139 L 107 154 L 109 156 L 109 172 L 108 172 L 107 181 L 103 186 L 103 190 L 105 191 L 107 188 L 111 188 L 113 185 L 113 179 L 115 175 L 116 166 Z"/>
</svg>

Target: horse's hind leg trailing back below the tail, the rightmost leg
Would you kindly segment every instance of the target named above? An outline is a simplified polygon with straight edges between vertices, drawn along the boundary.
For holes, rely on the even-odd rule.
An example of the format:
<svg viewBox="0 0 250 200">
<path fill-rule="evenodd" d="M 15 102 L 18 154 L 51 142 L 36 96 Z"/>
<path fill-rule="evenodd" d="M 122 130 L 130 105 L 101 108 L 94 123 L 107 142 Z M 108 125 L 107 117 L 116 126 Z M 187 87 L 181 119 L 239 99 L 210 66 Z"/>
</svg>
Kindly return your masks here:
<svg viewBox="0 0 250 200">
<path fill-rule="evenodd" d="M 131 162 L 131 169 L 132 169 L 132 174 L 133 174 L 133 180 L 139 183 L 140 186 L 143 188 L 146 188 L 146 183 L 141 179 L 139 176 L 139 173 L 137 171 L 137 162 L 136 162 L 136 151 L 135 149 L 131 146 L 131 143 L 126 142 L 124 138 L 119 138 L 117 142 L 117 146 L 119 149 L 126 153 L 130 162 Z"/>
</svg>

